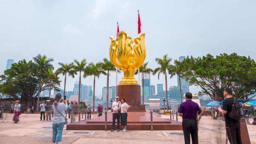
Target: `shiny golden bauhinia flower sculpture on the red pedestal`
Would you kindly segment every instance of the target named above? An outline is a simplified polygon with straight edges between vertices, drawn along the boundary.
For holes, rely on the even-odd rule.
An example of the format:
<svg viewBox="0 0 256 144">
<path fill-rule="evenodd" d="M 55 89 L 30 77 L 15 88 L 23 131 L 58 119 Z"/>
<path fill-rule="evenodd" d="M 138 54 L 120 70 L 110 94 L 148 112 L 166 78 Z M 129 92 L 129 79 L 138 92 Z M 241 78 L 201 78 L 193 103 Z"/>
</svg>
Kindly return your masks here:
<svg viewBox="0 0 256 144">
<path fill-rule="evenodd" d="M 134 78 L 135 71 L 143 64 L 146 58 L 145 33 L 140 33 L 132 39 L 125 31 L 121 31 L 117 38 L 110 37 L 110 61 L 124 72 L 119 84 L 138 84 Z"/>
</svg>

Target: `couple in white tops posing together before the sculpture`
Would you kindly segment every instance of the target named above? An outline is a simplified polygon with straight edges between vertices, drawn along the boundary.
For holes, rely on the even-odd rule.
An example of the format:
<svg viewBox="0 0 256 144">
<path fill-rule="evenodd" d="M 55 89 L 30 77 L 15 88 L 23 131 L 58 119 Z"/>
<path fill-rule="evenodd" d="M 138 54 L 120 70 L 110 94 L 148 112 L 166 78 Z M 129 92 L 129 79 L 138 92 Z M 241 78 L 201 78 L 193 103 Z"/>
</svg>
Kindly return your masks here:
<svg viewBox="0 0 256 144">
<path fill-rule="evenodd" d="M 119 101 L 119 96 L 116 96 L 116 101 L 112 104 L 113 110 L 113 121 L 112 121 L 112 132 L 115 131 L 115 122 L 117 120 L 117 131 L 119 132 L 120 127 L 120 117 L 121 117 L 121 126 L 124 126 L 124 130 L 122 132 L 127 131 L 127 111 L 129 109 L 129 105 L 125 102 L 124 98 L 121 98 Z"/>
</svg>

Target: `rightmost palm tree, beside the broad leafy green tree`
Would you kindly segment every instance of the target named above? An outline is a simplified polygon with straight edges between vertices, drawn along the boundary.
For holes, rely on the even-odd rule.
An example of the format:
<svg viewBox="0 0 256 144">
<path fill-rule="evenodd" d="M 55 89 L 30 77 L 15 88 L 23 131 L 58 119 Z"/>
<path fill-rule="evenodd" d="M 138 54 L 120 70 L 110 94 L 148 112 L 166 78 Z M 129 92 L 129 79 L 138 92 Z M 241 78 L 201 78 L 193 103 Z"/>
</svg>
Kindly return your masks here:
<svg viewBox="0 0 256 144">
<path fill-rule="evenodd" d="M 181 65 L 180 61 L 175 60 L 174 65 L 170 65 L 169 69 L 169 74 L 170 79 L 177 75 L 179 77 L 179 85 L 180 85 L 180 101 L 182 102 L 182 91 L 181 91 L 181 84 L 180 84 L 180 77 L 183 75 L 184 67 Z"/>
</svg>

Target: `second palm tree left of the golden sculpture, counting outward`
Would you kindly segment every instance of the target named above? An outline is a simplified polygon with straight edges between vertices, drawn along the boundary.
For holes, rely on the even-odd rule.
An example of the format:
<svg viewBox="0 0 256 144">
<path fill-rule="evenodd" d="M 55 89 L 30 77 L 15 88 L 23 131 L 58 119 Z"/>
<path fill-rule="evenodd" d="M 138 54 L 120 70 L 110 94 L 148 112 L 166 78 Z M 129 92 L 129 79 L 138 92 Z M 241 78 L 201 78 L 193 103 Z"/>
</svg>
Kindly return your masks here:
<svg viewBox="0 0 256 144">
<path fill-rule="evenodd" d="M 94 76 L 93 80 L 93 102 L 92 102 L 92 111 L 94 111 L 94 102 L 95 102 L 95 77 L 100 77 L 100 74 L 106 75 L 105 71 L 102 70 L 101 64 L 97 63 L 89 63 L 89 65 L 85 68 L 85 73 L 83 74 L 83 77 L 86 78 L 88 76 Z"/>
</svg>

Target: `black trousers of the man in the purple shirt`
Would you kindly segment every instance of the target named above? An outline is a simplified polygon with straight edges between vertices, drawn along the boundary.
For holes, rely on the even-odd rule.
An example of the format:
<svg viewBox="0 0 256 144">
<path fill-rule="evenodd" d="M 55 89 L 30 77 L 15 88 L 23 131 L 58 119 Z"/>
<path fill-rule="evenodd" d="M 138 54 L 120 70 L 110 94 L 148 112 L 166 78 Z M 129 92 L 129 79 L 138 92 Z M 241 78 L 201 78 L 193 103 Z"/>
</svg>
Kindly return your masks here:
<svg viewBox="0 0 256 144">
<path fill-rule="evenodd" d="M 182 128 L 183 128 L 185 144 L 190 144 L 190 135 L 192 138 L 192 144 L 198 144 L 197 120 L 183 119 Z"/>
</svg>

